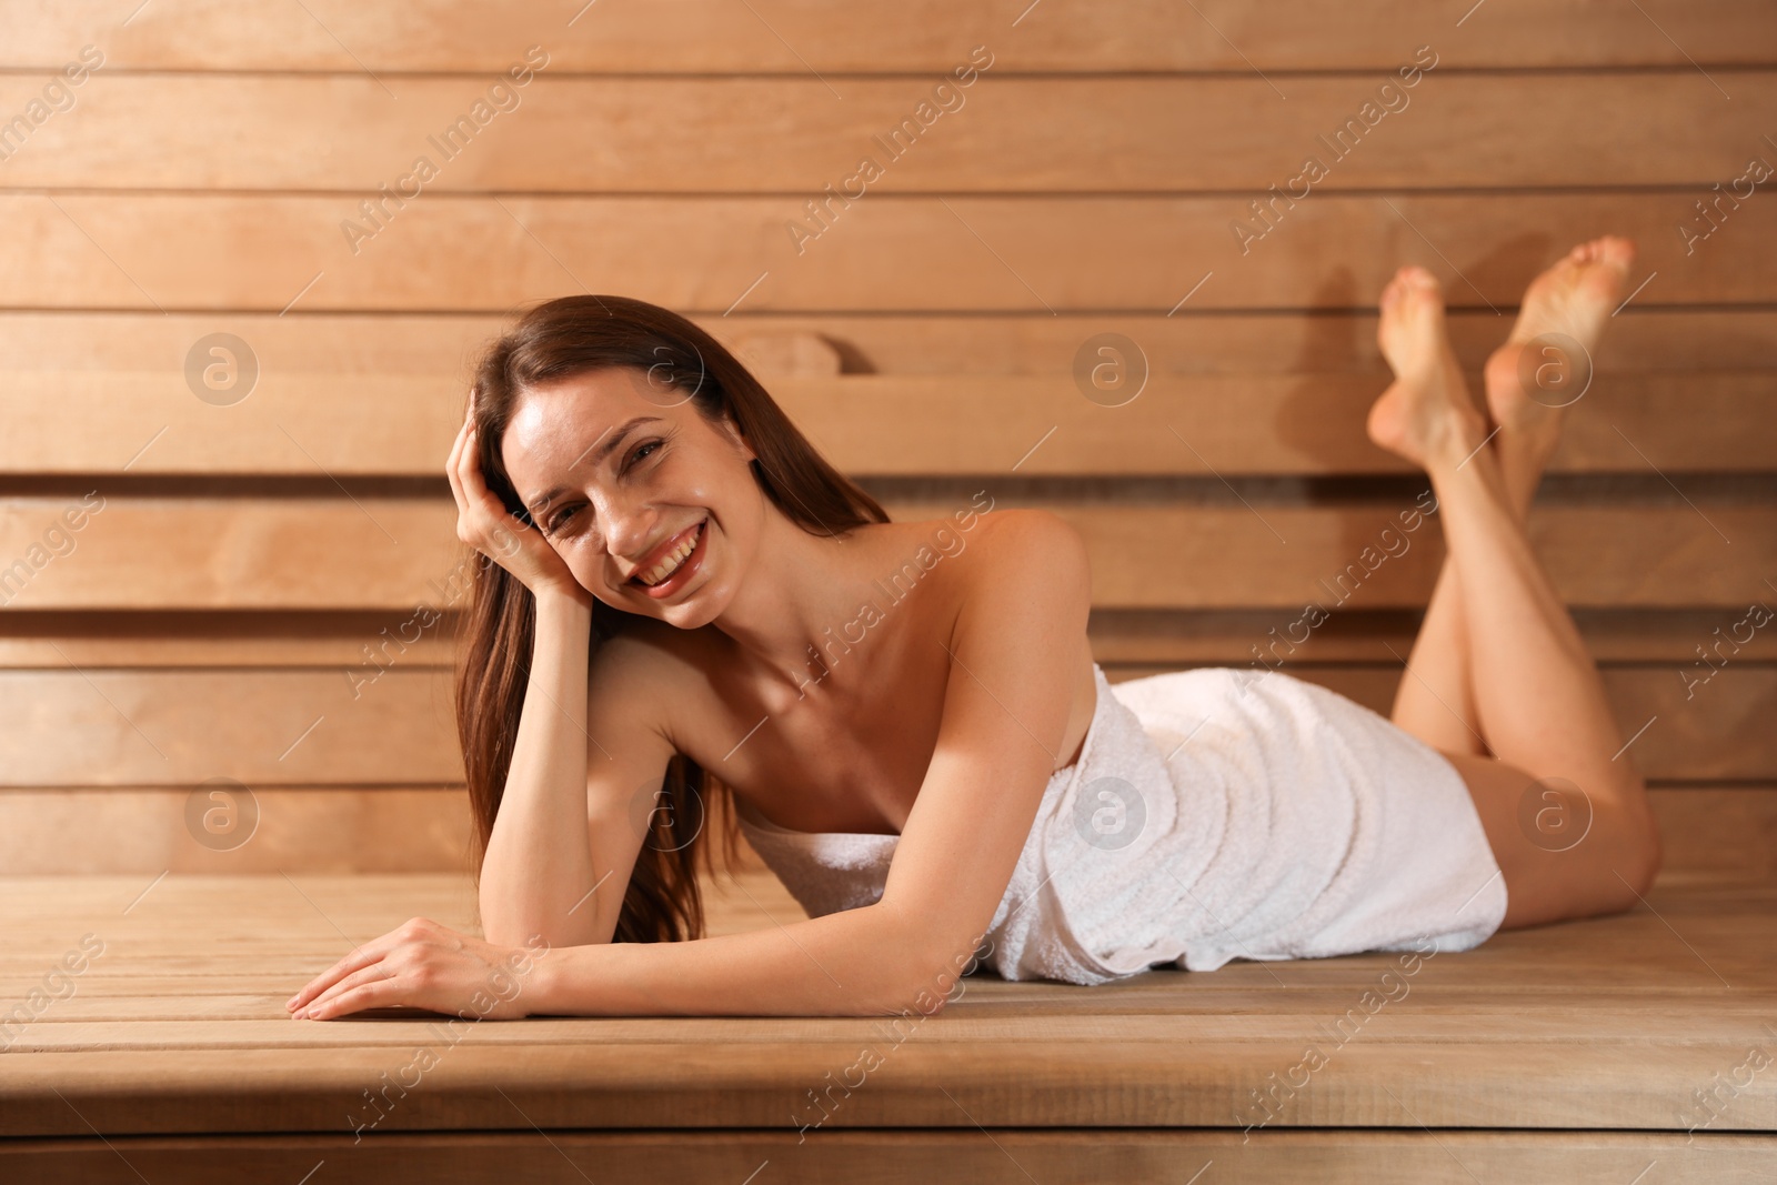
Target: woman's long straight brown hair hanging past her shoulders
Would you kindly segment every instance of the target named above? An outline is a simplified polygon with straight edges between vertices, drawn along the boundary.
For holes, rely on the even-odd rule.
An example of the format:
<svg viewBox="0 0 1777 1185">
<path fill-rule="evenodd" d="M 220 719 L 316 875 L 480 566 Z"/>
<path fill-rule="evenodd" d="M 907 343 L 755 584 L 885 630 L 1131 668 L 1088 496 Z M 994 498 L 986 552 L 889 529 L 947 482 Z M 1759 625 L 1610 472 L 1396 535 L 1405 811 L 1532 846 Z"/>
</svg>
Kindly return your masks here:
<svg viewBox="0 0 1777 1185">
<path fill-rule="evenodd" d="M 494 341 L 476 366 L 469 407 L 480 432 L 487 487 L 517 519 L 530 513 L 506 476 L 499 442 L 528 387 L 604 368 L 636 368 L 659 389 L 675 389 L 711 425 L 739 428 L 755 453 L 753 478 L 784 512 L 812 535 L 842 535 L 888 513 L 848 481 L 809 444 L 764 386 L 714 338 L 689 320 L 626 297 L 562 297 L 530 313 Z M 594 602 L 592 643 L 597 647 L 634 615 Z M 474 867 L 480 876 L 494 815 L 512 767 L 512 748 L 524 711 L 524 691 L 537 627 L 537 602 L 510 572 L 476 556 L 474 592 L 457 647 L 457 737 L 476 823 Z M 590 661 L 588 652 L 588 661 Z M 661 808 L 649 815 L 647 835 L 624 894 L 615 942 L 681 942 L 704 934 L 704 903 L 697 853 L 713 869 L 705 821 L 718 814 L 729 867 L 737 853 L 729 789 L 684 753 L 665 771 Z"/>
</svg>

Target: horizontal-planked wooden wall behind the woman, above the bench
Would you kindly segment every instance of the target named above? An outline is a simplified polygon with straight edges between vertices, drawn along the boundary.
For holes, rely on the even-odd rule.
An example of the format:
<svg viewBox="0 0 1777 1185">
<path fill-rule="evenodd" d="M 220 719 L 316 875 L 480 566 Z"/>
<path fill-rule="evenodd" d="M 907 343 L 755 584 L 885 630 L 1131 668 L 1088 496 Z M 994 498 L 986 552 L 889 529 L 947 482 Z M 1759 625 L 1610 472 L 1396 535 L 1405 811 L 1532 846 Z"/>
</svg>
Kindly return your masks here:
<svg viewBox="0 0 1777 1185">
<path fill-rule="evenodd" d="M 0 869 L 460 867 L 441 465 L 528 302 L 695 316 L 896 517 L 1068 515 L 1116 679 L 1253 661 L 1425 489 L 1361 432 L 1395 266 L 1478 371 L 1615 231 L 1532 533 L 1672 874 L 1772 872 L 1768 4 L 137 4 L 0 2 Z M 1287 670 L 1386 712 L 1439 554 Z"/>
</svg>

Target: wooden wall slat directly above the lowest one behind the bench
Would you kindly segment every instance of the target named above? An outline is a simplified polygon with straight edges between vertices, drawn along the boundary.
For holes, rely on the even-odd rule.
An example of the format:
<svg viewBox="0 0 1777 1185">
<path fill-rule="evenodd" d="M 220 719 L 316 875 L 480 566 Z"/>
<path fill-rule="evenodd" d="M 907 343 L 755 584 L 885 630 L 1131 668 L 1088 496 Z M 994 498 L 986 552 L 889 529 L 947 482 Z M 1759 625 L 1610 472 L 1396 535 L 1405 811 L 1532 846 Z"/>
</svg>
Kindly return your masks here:
<svg viewBox="0 0 1777 1185">
<path fill-rule="evenodd" d="M 1255 677 L 1262 670 L 1233 664 Z M 1111 663 L 1105 673 L 1121 682 L 1162 668 Z M 1402 679 L 1397 664 L 1301 663 L 1285 673 L 1383 716 Z M 1690 682 L 1685 673 L 1677 663 L 1603 670 L 1619 728 L 1635 736 L 1637 767 L 1665 780 L 1777 780 L 1768 728 L 1777 666 L 1731 661 Z M 0 672 L 0 693 L 20 705 L 0 718 L 0 787 L 460 782 L 450 670 L 396 663 L 371 675 L 357 664 Z"/>
</svg>

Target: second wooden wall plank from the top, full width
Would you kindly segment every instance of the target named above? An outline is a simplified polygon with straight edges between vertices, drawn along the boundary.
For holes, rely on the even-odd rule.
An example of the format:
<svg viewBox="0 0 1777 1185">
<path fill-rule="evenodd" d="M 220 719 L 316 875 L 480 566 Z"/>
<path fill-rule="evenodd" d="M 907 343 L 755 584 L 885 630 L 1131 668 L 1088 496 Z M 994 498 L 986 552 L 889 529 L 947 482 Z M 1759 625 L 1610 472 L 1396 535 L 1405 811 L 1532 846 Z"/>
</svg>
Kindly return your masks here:
<svg viewBox="0 0 1777 1185">
<path fill-rule="evenodd" d="M 1400 62 L 1413 62 L 1406 44 Z M 23 108 L 50 78 L 0 76 L 0 110 Z M 546 75 L 498 92 L 485 76 L 100 75 L 80 91 L 78 117 L 32 130 L 4 178 L 5 188 L 28 190 L 347 192 L 334 199 L 336 217 L 354 219 L 364 238 L 380 236 L 384 219 L 398 224 L 409 197 L 442 192 L 791 192 L 823 203 L 823 185 L 851 195 L 1263 194 L 1272 185 L 1306 195 L 1599 178 L 1708 192 L 1747 172 L 1765 147 L 1757 112 L 1777 105 L 1777 73 L 1736 71 L 1736 101 L 1724 103 L 1688 62 L 1635 75 L 1432 71 L 1414 73 L 1413 87 L 1398 84 L 1390 71 L 1292 78 L 1283 101 L 1274 82 L 1249 71 L 986 73 L 942 91 L 935 105 L 929 78 L 848 78 L 835 103 L 832 84 L 809 75 Z M 478 101 L 483 115 L 469 117 Z M 920 103 L 924 121 L 913 117 Z M 903 119 L 912 133 L 894 140 Z M 697 169 L 684 167 L 691 158 Z M 1320 171 L 1292 183 L 1308 158 Z M 1741 181 L 1741 197 L 1757 179 Z M 394 195 L 379 197 L 379 187 Z M 357 213 L 359 195 L 377 217 Z M 849 201 L 830 201 L 830 217 L 848 220 Z M 825 227 L 825 217 L 803 222 L 810 235 Z"/>
</svg>

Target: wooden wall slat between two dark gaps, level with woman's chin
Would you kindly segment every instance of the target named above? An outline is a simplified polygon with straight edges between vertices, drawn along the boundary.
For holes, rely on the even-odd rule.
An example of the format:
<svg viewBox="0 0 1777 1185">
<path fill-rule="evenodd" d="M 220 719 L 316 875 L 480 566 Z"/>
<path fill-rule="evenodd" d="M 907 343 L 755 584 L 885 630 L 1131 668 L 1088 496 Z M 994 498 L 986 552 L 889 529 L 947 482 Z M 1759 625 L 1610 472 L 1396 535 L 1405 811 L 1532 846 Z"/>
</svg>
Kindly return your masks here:
<svg viewBox="0 0 1777 1185">
<path fill-rule="evenodd" d="M 78 533 L 64 531 L 75 545 L 57 558 L 44 538 L 71 505 L 80 496 L 0 497 L 11 608 L 398 611 L 448 602 L 473 563 L 455 505 L 441 497 L 112 496 Z M 954 510 L 926 499 L 887 508 L 897 521 Z M 1423 521 L 1402 531 L 1411 499 L 1052 510 L 1086 537 L 1093 604 L 1107 609 L 1418 608 L 1441 558 Z M 1757 503 L 1551 505 L 1532 515 L 1530 537 L 1567 604 L 1587 608 L 1743 609 L 1768 595 L 1763 574 L 1777 569 L 1773 510 Z"/>
</svg>

